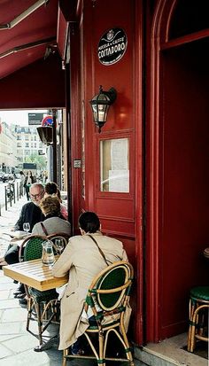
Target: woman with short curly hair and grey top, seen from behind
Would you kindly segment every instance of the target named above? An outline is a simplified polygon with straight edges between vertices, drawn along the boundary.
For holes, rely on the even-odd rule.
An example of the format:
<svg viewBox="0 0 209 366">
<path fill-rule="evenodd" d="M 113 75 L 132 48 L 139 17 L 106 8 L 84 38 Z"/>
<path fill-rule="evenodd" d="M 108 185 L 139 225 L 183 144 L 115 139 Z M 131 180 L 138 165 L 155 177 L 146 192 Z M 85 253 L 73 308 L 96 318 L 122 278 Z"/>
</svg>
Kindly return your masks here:
<svg viewBox="0 0 209 366">
<path fill-rule="evenodd" d="M 35 235 L 50 235 L 62 232 L 71 235 L 71 224 L 63 219 L 60 212 L 60 202 L 58 197 L 43 198 L 40 208 L 45 216 L 44 223 L 37 222 L 32 230 Z"/>
</svg>

